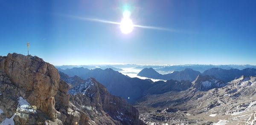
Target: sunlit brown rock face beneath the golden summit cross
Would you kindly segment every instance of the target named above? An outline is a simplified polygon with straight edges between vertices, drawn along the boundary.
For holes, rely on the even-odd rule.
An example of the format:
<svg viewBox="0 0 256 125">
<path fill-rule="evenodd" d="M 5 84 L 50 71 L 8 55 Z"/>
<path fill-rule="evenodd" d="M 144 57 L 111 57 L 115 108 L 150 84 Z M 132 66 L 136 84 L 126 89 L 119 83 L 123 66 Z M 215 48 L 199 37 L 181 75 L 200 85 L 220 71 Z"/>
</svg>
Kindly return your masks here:
<svg viewBox="0 0 256 125">
<path fill-rule="evenodd" d="M 36 56 L 8 54 L 0 57 L 0 70 L 18 88 L 18 93 L 51 119 L 57 118 L 54 95 L 59 86 L 58 70 Z"/>
</svg>

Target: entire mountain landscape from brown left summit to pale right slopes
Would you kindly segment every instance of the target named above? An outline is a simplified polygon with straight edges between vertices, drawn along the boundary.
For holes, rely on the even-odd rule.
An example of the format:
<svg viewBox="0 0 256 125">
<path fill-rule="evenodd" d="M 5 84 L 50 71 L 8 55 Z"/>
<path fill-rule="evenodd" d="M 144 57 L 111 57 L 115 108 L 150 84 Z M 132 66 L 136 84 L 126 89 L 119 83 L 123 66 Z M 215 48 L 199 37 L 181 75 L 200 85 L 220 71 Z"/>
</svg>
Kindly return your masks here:
<svg viewBox="0 0 256 125">
<path fill-rule="evenodd" d="M 164 75 L 145 68 L 138 75 L 166 81 L 130 78 L 111 68 L 56 69 L 37 56 L 0 56 L 0 123 L 256 124 L 254 68 Z"/>
</svg>

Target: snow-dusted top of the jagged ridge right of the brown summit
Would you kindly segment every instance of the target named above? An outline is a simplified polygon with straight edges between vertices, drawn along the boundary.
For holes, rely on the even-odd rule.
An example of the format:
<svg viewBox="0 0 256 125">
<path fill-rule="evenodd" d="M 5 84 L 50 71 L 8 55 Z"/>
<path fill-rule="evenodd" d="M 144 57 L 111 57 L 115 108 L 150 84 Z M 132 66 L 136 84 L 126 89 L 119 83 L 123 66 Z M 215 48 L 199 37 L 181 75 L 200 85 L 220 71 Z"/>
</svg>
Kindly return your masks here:
<svg viewBox="0 0 256 125">
<path fill-rule="evenodd" d="M 83 84 L 80 84 L 78 86 L 76 86 L 73 89 L 70 89 L 68 91 L 68 93 L 70 94 L 77 94 L 77 93 L 81 93 L 81 94 L 87 94 L 87 90 L 90 89 L 91 86 L 94 86 L 94 83 L 92 82 L 91 78 L 88 78 L 87 81 Z"/>
</svg>

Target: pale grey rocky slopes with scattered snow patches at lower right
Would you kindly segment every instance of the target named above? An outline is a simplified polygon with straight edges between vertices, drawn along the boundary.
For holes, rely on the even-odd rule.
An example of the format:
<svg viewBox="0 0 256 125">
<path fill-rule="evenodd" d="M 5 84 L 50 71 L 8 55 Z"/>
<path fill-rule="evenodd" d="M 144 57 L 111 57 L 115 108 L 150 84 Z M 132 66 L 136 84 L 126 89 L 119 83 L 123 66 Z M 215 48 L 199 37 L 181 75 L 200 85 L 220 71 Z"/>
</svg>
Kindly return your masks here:
<svg viewBox="0 0 256 125">
<path fill-rule="evenodd" d="M 254 125 L 255 90 L 256 76 L 228 83 L 198 76 L 184 91 L 146 93 L 135 107 L 148 125 Z"/>
</svg>

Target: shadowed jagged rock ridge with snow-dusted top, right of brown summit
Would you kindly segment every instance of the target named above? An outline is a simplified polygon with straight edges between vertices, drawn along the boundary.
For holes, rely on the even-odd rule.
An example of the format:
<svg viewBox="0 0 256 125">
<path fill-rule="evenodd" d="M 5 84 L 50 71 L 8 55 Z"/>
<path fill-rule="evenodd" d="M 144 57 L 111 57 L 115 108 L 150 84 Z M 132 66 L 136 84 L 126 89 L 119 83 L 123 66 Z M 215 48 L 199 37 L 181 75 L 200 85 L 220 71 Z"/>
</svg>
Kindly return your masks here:
<svg viewBox="0 0 256 125">
<path fill-rule="evenodd" d="M 70 89 L 69 93 L 72 94 L 70 101 L 79 110 L 91 116 L 88 120 L 90 124 L 144 124 L 138 119 L 139 112 L 136 108 L 124 99 L 109 94 L 107 89 L 94 78 L 88 78 L 85 83 Z"/>
</svg>

